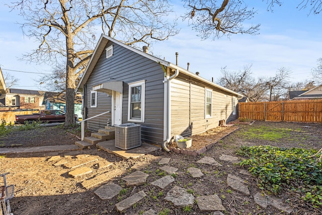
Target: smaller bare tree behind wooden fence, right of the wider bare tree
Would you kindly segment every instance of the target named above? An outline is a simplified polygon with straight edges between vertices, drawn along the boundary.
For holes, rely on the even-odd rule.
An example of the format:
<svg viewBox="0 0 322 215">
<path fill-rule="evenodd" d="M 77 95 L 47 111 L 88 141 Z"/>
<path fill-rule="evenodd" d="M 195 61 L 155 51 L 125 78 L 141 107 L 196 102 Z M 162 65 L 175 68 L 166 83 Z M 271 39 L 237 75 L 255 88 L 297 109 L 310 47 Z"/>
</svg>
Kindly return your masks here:
<svg viewBox="0 0 322 215">
<path fill-rule="evenodd" d="M 264 79 L 268 91 L 269 101 L 278 101 L 282 97 L 286 98 L 290 82 L 288 81 L 291 70 L 281 67 L 278 68 L 274 77 Z"/>
</svg>

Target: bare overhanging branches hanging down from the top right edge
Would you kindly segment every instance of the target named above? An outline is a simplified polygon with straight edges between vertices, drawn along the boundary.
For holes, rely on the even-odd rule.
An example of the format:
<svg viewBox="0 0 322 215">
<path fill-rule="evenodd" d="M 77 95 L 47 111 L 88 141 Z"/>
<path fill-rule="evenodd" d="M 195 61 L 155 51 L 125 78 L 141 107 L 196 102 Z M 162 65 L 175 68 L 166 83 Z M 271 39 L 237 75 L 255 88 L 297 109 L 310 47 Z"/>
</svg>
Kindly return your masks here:
<svg viewBox="0 0 322 215">
<path fill-rule="evenodd" d="M 267 10 L 273 11 L 274 6 L 282 6 L 282 0 L 262 0 L 268 5 Z M 257 34 L 260 25 L 243 25 L 251 20 L 256 10 L 240 0 L 184 0 L 186 14 L 184 19 L 189 20 L 189 25 L 202 39 L 219 38 L 226 34 Z M 251 4 L 251 3 L 250 3 Z M 310 7 L 310 13 L 319 14 L 322 10 L 321 0 L 299 0 L 294 3 L 299 10 Z"/>
</svg>

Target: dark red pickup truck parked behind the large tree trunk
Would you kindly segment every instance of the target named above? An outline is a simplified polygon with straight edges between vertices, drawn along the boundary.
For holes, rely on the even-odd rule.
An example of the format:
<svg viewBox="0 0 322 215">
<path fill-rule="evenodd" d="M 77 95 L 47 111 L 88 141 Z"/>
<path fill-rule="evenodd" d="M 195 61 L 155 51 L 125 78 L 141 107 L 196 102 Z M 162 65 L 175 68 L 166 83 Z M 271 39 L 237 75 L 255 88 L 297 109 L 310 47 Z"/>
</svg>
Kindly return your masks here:
<svg viewBox="0 0 322 215">
<path fill-rule="evenodd" d="M 78 116 L 75 114 L 75 120 L 78 121 Z M 60 110 L 41 110 L 39 113 L 16 115 L 15 124 L 25 124 L 25 122 L 40 121 L 40 122 L 64 122 L 65 113 Z"/>
</svg>

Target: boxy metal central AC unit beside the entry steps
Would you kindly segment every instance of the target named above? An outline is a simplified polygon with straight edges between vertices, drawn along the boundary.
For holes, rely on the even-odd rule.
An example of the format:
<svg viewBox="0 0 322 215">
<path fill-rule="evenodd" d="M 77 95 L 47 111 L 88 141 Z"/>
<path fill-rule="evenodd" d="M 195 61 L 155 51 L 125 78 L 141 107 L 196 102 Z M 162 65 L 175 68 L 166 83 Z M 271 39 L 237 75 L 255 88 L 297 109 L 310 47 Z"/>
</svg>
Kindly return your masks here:
<svg viewBox="0 0 322 215">
<path fill-rule="evenodd" d="M 128 150 L 141 146 L 141 125 L 125 123 L 115 125 L 115 147 Z"/>
</svg>

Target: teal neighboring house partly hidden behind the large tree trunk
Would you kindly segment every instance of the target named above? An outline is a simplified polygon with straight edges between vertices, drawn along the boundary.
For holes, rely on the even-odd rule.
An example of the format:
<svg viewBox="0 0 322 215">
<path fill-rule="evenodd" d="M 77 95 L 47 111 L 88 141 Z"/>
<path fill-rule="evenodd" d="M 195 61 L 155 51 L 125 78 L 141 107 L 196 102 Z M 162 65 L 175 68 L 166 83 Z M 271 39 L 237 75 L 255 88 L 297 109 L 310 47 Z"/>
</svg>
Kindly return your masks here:
<svg viewBox="0 0 322 215">
<path fill-rule="evenodd" d="M 42 105 L 46 110 L 61 110 L 66 112 L 66 94 L 56 92 L 45 92 Z M 82 95 L 80 93 L 75 94 L 74 102 L 75 114 L 81 118 L 82 116 Z"/>
</svg>

